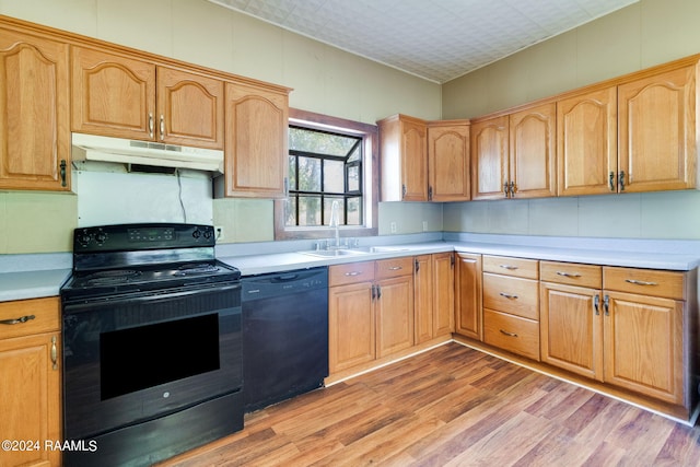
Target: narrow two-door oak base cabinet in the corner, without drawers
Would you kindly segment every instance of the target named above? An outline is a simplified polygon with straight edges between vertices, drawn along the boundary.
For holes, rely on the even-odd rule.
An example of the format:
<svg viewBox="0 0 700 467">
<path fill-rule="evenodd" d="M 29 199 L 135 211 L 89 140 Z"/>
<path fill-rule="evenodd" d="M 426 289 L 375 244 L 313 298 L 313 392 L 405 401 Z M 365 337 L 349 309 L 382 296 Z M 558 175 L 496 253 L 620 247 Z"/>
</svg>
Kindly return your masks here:
<svg viewBox="0 0 700 467">
<path fill-rule="evenodd" d="M 454 265 L 452 252 L 413 258 L 416 343 L 454 331 Z"/>
</svg>

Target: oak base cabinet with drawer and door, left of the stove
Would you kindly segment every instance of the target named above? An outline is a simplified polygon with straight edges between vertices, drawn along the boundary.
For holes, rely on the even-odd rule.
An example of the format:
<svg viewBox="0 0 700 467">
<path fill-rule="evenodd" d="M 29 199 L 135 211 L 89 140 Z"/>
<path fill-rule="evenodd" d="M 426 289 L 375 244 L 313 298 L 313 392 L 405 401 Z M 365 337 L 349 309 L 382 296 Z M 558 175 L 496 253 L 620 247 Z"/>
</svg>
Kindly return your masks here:
<svg viewBox="0 0 700 467">
<path fill-rule="evenodd" d="M 61 440 L 59 316 L 58 297 L 0 303 L 0 433 L 38 443 L 3 450 L 2 465 L 60 465 L 60 451 L 44 446 Z"/>
</svg>

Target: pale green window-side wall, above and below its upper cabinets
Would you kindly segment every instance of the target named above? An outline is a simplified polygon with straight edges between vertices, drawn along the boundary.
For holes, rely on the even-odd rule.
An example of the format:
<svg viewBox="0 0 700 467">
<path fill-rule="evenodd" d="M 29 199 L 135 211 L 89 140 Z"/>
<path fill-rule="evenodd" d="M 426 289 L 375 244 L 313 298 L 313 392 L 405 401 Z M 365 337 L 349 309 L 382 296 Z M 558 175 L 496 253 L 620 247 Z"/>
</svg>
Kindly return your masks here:
<svg viewBox="0 0 700 467">
<path fill-rule="evenodd" d="M 0 14 L 293 87 L 290 105 L 305 110 L 370 124 L 442 112 L 435 83 L 205 0 L 0 0 Z M 0 191 L 0 254 L 70 250 L 77 205 L 70 195 Z M 430 209 L 442 215 L 441 206 Z M 224 242 L 272 238 L 268 200 L 214 200 L 213 212 Z"/>
</svg>

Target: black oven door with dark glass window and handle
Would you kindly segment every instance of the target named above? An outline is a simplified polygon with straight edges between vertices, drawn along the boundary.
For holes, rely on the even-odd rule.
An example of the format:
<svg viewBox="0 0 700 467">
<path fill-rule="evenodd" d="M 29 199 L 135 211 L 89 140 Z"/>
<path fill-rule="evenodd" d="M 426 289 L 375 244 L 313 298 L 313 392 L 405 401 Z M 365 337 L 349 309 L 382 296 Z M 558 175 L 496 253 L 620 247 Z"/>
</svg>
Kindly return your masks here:
<svg viewBox="0 0 700 467">
<path fill-rule="evenodd" d="M 63 305 L 66 439 L 241 390 L 241 284 Z"/>
</svg>

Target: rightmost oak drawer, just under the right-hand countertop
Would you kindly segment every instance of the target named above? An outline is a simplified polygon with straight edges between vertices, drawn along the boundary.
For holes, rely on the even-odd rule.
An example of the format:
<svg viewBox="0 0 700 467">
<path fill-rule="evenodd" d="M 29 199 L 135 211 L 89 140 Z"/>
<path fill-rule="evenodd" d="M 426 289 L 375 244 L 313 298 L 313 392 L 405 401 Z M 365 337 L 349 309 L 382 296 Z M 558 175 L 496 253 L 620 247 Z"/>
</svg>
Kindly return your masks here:
<svg viewBox="0 0 700 467">
<path fill-rule="evenodd" d="M 603 288 L 641 295 L 684 300 L 686 275 L 655 269 L 603 268 Z"/>
</svg>

